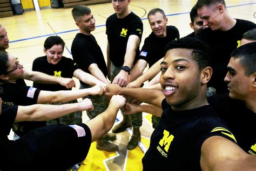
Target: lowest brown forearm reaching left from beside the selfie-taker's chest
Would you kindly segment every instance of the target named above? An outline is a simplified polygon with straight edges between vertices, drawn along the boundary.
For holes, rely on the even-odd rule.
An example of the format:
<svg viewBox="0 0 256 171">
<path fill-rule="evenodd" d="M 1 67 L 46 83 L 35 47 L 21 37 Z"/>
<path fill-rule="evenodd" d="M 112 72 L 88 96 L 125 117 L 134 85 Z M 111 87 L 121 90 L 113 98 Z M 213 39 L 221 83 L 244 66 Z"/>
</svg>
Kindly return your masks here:
<svg viewBox="0 0 256 171">
<path fill-rule="evenodd" d="M 126 103 L 125 108 L 122 109 L 122 111 L 124 115 L 132 115 L 138 112 L 146 112 L 157 117 L 161 117 L 163 113 L 163 110 L 161 108 L 152 104 L 138 105 L 138 104 Z"/>
</svg>

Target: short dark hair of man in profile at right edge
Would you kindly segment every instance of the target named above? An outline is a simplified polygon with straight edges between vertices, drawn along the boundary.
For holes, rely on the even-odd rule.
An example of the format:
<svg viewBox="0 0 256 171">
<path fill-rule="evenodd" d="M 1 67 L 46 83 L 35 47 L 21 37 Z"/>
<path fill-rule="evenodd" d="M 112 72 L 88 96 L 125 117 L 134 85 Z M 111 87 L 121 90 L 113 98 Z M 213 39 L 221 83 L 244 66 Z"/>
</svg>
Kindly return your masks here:
<svg viewBox="0 0 256 171">
<path fill-rule="evenodd" d="M 250 42 L 235 49 L 231 58 L 240 59 L 240 65 L 245 69 L 245 75 L 256 73 L 256 42 Z"/>
</svg>

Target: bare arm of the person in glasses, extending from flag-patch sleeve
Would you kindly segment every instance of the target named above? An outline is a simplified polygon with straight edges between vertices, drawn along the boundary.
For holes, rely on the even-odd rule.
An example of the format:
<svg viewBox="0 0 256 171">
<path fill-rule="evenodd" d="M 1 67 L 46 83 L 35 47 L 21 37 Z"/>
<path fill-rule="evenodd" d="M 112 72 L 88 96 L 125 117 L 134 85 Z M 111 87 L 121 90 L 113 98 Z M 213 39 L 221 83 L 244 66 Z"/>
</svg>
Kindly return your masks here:
<svg viewBox="0 0 256 171">
<path fill-rule="evenodd" d="M 62 91 L 43 91 L 38 95 L 37 103 L 64 103 L 87 95 L 102 95 L 104 92 L 103 86 L 93 86 L 87 89 L 80 90 L 62 90 Z"/>
</svg>

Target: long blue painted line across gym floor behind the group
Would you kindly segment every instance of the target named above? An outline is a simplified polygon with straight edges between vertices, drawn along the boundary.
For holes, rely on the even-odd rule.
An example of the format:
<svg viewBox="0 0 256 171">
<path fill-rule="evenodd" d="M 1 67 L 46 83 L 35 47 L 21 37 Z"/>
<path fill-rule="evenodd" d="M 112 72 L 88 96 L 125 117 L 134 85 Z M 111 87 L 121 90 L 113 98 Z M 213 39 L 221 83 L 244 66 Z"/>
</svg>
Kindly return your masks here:
<svg viewBox="0 0 256 171">
<path fill-rule="evenodd" d="M 227 6 L 227 8 L 233 8 L 233 7 L 245 6 L 245 5 L 252 5 L 252 4 L 256 4 L 256 3 L 248 3 L 248 4 L 240 4 L 240 5 Z M 167 17 L 169 17 L 169 16 L 177 16 L 177 15 L 184 15 L 184 14 L 187 14 L 187 13 L 190 13 L 190 12 L 173 13 L 173 14 L 166 15 L 166 16 Z M 145 19 L 147 19 L 147 18 L 142 18 L 142 20 L 145 20 Z M 98 26 L 95 26 L 95 27 L 103 27 L 103 26 L 106 26 L 106 25 L 102 24 L 102 25 L 98 25 Z M 26 38 L 26 39 L 13 40 L 13 41 L 9 41 L 9 43 L 18 42 L 18 41 L 25 41 L 25 40 L 31 40 L 31 39 L 37 39 L 37 38 L 42 38 L 42 37 L 49 37 L 50 35 L 63 34 L 63 33 L 69 33 L 69 32 L 74 32 L 74 31 L 78 31 L 78 29 L 69 30 L 69 31 L 63 31 L 63 32 L 58 32 L 58 33 L 52 33 L 52 34 L 39 35 L 39 36 L 36 36 L 36 37 L 31 37 L 31 38 Z"/>
</svg>

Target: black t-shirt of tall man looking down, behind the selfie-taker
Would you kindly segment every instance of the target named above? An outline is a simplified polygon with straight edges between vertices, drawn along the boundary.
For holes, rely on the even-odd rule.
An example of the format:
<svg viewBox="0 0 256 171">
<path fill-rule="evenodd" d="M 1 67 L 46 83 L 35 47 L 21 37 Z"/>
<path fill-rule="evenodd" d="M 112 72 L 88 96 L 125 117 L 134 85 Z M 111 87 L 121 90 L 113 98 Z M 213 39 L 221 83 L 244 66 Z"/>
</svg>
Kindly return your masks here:
<svg viewBox="0 0 256 171">
<path fill-rule="evenodd" d="M 214 87 L 217 93 L 227 92 L 227 84 L 224 78 L 227 74 L 227 64 L 230 54 L 240 45 L 242 34 L 256 28 L 256 24 L 247 20 L 236 19 L 237 23 L 228 31 L 212 31 L 206 28 L 200 32 L 197 38 L 206 42 L 212 50 L 213 74 L 209 87 Z"/>
</svg>

